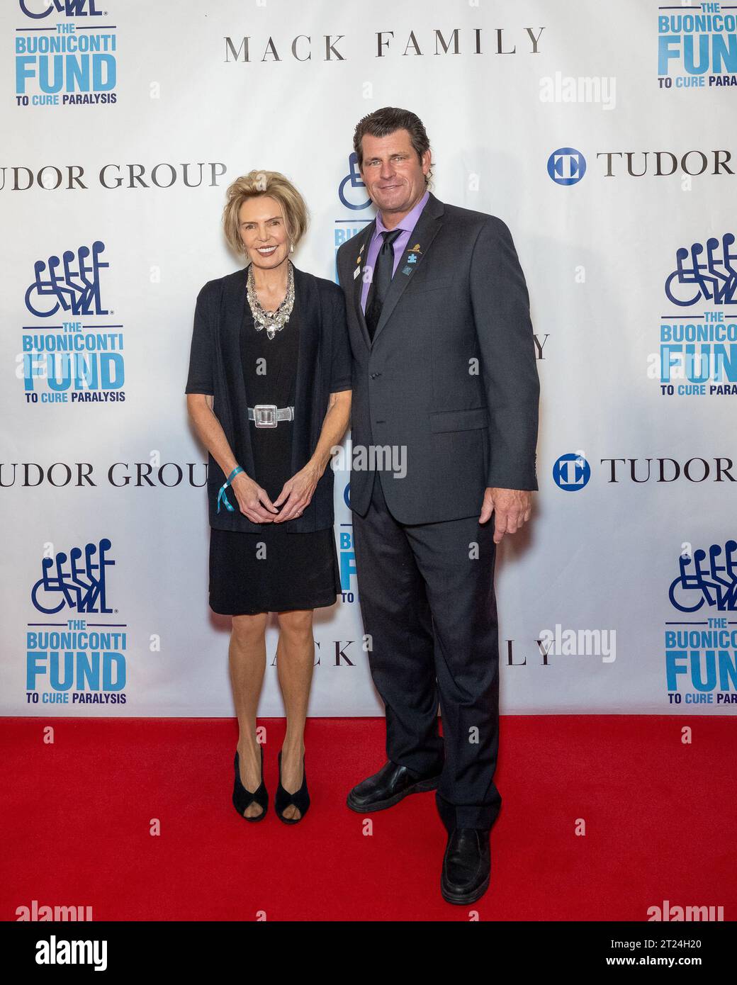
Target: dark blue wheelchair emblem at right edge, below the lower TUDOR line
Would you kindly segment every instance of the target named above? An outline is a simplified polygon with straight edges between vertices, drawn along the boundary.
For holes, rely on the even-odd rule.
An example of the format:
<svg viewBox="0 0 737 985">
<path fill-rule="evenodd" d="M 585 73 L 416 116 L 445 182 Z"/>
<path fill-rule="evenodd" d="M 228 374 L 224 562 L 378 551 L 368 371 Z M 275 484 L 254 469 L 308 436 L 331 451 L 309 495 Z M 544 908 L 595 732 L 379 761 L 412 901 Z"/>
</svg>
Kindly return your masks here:
<svg viewBox="0 0 737 985">
<path fill-rule="evenodd" d="M 682 613 L 698 612 L 704 602 L 719 612 L 737 609 L 737 541 L 727 541 L 724 547 L 712 544 L 706 552 L 694 552 L 694 557 L 678 558 L 680 573 L 668 589 L 668 598 Z M 723 563 L 719 563 L 721 556 Z M 704 563 L 706 561 L 706 563 Z"/>
</svg>

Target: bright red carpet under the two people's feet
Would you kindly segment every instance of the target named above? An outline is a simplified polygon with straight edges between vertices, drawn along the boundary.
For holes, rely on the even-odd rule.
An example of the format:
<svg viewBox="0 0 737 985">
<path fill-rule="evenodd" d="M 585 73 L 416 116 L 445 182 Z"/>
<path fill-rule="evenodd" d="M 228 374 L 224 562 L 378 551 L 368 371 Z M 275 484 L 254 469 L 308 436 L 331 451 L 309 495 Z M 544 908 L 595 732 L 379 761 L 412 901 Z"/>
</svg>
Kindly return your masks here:
<svg viewBox="0 0 737 985">
<path fill-rule="evenodd" d="M 283 722 L 260 724 L 271 800 L 249 824 L 231 803 L 234 720 L 4 719 L 0 919 L 34 899 L 92 906 L 94 920 L 468 920 L 475 909 L 643 921 L 666 899 L 737 917 L 731 719 L 504 717 L 492 884 L 468 908 L 439 893 L 433 794 L 370 816 L 370 836 L 345 806 L 384 761 L 382 719 L 308 722 L 312 806 L 294 826 L 273 813 Z"/>
</svg>

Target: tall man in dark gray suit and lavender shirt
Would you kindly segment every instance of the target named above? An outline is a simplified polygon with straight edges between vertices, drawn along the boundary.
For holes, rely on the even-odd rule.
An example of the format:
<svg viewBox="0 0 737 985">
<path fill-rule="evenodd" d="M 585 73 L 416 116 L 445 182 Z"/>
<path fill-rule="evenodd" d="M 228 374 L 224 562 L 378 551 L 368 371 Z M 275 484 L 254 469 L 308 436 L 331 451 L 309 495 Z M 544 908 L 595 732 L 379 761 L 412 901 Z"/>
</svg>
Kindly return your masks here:
<svg viewBox="0 0 737 985">
<path fill-rule="evenodd" d="M 489 886 L 502 804 L 496 545 L 529 519 L 538 488 L 529 297 L 503 222 L 429 191 L 414 113 L 369 113 L 354 149 L 377 215 L 337 262 L 354 357 L 358 587 L 388 761 L 348 806 L 368 814 L 436 790 L 440 890 L 466 904 Z M 369 470 L 357 468 L 362 448 Z M 403 468 L 377 461 L 381 448 L 405 455 Z"/>
</svg>

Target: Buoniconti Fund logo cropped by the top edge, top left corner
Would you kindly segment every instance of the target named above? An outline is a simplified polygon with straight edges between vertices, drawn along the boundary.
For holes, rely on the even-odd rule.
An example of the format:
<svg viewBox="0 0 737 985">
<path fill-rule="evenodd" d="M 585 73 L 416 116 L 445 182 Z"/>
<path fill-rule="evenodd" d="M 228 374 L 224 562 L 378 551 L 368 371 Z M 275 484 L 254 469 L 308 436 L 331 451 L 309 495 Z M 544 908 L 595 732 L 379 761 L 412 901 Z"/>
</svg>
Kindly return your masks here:
<svg viewBox="0 0 737 985">
<path fill-rule="evenodd" d="M 19 7 L 14 38 L 19 106 L 115 102 L 117 37 L 114 25 L 105 26 L 100 0 L 19 0 Z"/>
</svg>

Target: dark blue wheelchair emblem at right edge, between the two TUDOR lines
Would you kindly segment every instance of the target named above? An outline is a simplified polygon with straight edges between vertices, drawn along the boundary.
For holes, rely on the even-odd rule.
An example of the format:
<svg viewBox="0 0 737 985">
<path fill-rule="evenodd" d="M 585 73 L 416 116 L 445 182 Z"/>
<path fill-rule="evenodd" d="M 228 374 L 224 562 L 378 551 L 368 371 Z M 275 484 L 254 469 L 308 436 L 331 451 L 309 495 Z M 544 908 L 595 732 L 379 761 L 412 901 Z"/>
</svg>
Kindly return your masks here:
<svg viewBox="0 0 737 985">
<path fill-rule="evenodd" d="M 665 295 L 679 307 L 700 301 L 713 304 L 733 304 L 737 290 L 737 269 L 733 266 L 737 253 L 730 252 L 734 233 L 725 232 L 719 240 L 711 236 L 703 243 L 692 243 L 676 250 L 676 269 L 665 282 Z M 705 252 L 705 255 L 704 255 Z"/>
</svg>

